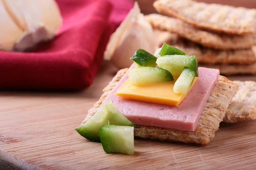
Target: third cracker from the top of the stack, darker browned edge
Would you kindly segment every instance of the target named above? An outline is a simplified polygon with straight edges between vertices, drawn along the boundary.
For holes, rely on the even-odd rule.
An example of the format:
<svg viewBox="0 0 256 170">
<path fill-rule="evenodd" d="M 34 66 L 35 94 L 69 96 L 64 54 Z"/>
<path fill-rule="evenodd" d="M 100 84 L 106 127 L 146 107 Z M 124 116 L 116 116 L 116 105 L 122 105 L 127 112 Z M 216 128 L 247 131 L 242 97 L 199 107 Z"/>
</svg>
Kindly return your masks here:
<svg viewBox="0 0 256 170">
<path fill-rule="evenodd" d="M 154 32 L 159 42 L 162 42 L 158 44 L 158 47 L 161 47 L 163 42 L 166 42 L 167 44 L 173 45 L 181 51 L 185 51 L 189 55 L 195 55 L 198 63 L 200 64 L 252 65 L 256 62 L 255 47 L 242 50 L 213 50 L 211 48 L 202 47 L 195 42 L 185 40 L 175 33 L 160 31 L 157 29 L 155 29 Z"/>
</svg>

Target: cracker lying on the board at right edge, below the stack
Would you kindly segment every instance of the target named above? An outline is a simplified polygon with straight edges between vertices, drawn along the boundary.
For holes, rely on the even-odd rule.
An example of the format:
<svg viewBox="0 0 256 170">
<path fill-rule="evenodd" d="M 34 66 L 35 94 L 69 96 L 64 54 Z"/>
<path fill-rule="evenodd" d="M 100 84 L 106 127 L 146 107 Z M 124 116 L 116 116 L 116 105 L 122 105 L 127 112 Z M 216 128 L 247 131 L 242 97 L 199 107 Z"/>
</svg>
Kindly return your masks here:
<svg viewBox="0 0 256 170">
<path fill-rule="evenodd" d="M 223 121 L 234 123 L 256 119 L 256 82 L 234 82 L 239 85 L 239 89 L 233 97 Z"/>
</svg>

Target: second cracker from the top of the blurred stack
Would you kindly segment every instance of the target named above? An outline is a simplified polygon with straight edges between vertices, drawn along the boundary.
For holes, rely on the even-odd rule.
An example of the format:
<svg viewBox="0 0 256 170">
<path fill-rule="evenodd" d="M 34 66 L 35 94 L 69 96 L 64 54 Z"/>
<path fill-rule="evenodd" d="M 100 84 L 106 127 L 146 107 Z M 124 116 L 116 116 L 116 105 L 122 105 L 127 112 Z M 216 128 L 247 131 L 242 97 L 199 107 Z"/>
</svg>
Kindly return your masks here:
<svg viewBox="0 0 256 170">
<path fill-rule="evenodd" d="M 256 44 L 255 34 L 217 34 L 215 32 L 201 30 L 176 18 L 166 17 L 160 14 L 149 14 L 145 16 L 145 19 L 155 29 L 176 33 L 180 37 L 201 44 L 204 47 L 230 50 L 251 48 L 251 46 Z"/>
</svg>

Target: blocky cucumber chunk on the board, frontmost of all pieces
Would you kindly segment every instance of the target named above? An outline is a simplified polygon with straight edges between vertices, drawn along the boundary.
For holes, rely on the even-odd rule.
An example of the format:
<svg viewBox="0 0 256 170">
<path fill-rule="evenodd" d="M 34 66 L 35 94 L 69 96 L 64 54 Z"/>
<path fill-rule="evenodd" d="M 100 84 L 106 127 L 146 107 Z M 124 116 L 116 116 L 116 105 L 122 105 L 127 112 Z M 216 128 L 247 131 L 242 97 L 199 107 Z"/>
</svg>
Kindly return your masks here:
<svg viewBox="0 0 256 170">
<path fill-rule="evenodd" d="M 134 127 L 103 125 L 99 128 L 99 136 L 105 152 L 118 152 L 133 155 Z"/>
</svg>

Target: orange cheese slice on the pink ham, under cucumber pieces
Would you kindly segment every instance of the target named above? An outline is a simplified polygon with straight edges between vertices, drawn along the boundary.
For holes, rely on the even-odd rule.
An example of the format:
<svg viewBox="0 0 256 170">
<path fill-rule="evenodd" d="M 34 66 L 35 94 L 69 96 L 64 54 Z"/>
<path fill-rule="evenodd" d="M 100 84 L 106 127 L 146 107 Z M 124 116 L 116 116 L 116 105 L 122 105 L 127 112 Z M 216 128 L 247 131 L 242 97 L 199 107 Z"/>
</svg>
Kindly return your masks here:
<svg viewBox="0 0 256 170">
<path fill-rule="evenodd" d="M 157 103 L 163 105 L 178 106 L 180 102 L 186 97 L 186 94 L 175 94 L 173 86 L 178 77 L 173 77 L 172 82 L 158 82 L 145 86 L 133 85 L 128 78 L 122 86 L 116 91 L 115 95 L 126 99 L 139 100 L 143 102 Z M 194 78 L 193 87 L 198 77 Z"/>
</svg>

